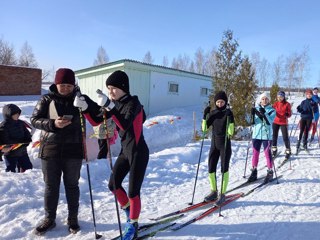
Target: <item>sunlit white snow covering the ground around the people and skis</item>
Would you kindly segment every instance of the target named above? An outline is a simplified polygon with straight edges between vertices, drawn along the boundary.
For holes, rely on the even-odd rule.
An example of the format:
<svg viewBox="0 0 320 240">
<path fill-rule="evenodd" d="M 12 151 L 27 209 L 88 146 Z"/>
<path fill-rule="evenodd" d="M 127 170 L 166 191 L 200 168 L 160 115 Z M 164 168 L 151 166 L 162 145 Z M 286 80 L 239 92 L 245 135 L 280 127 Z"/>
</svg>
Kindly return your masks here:
<svg viewBox="0 0 320 240">
<path fill-rule="evenodd" d="M 21 118 L 29 121 L 39 96 L 0 97 L 0 109 L 4 104 L 15 103 L 22 109 Z M 292 99 L 294 108 L 302 98 Z M 144 135 L 150 147 L 150 161 L 143 184 L 142 212 L 140 224 L 151 222 L 149 218 L 187 206 L 191 201 L 201 142 L 192 140 L 193 112 L 196 113 L 197 129 L 200 128 L 203 106 L 172 109 L 150 116 L 144 124 Z M 295 126 L 290 119 L 290 129 Z M 296 122 L 298 121 L 297 118 Z M 2 120 L 2 116 L 0 117 Z M 154 121 L 157 124 L 151 125 Z M 89 134 L 88 134 L 89 135 Z M 292 151 L 298 131 L 291 138 Z M 37 133 L 35 134 L 35 138 Z M 96 140 L 88 138 L 91 157 L 95 158 Z M 282 154 L 276 165 L 283 160 L 284 146 L 279 138 Z M 247 141 L 233 141 L 233 155 L 230 164 L 229 188 L 244 181 L 244 167 Z M 205 140 L 195 202 L 201 201 L 209 192 L 207 180 L 207 159 L 210 140 Z M 293 156 L 290 164 L 277 171 L 283 175 L 279 184 L 272 183 L 251 195 L 222 208 L 224 217 L 218 213 L 193 223 L 179 231 L 164 231 L 154 239 L 320 239 L 320 149 L 317 143 L 310 147 L 310 154 L 302 152 Z M 113 155 L 119 151 L 118 143 L 112 147 Z M 23 174 L 5 172 L 4 162 L 0 162 L 0 238 L 1 239 L 94 239 L 92 212 L 88 188 L 87 165 L 81 170 L 80 213 L 81 231 L 76 235 L 67 232 L 67 205 L 63 185 L 57 212 L 57 227 L 44 237 L 35 237 L 33 228 L 43 218 L 44 184 L 37 149 L 29 148 L 35 166 Z M 251 148 L 247 175 L 249 174 Z M 115 158 L 113 158 L 115 161 Z M 109 162 L 96 160 L 89 164 L 94 197 L 97 232 L 110 239 L 118 234 L 114 197 L 108 191 L 107 179 L 110 175 Z M 258 175 L 265 175 L 265 159 L 260 156 Z M 220 183 L 220 174 L 218 174 Z M 218 184 L 219 186 L 220 184 Z M 125 181 L 127 187 L 127 181 Z M 252 186 L 241 189 L 248 191 Z M 237 192 L 237 191 L 235 191 Z M 186 214 L 177 223 L 185 222 L 201 210 Z M 122 223 L 124 213 L 120 212 Z"/>
</svg>

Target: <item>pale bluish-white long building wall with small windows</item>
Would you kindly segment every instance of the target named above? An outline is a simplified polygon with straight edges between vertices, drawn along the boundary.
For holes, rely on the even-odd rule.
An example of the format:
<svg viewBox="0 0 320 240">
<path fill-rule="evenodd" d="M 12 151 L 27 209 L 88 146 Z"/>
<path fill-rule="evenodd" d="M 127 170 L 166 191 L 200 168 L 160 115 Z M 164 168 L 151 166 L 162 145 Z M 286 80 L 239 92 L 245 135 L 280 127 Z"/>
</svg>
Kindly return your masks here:
<svg viewBox="0 0 320 240">
<path fill-rule="evenodd" d="M 179 85 L 178 93 L 169 92 L 169 83 Z M 201 88 L 212 89 L 208 77 L 151 72 L 149 113 L 156 113 L 173 107 L 184 107 L 208 102 L 208 95 L 201 95 Z"/>
</svg>

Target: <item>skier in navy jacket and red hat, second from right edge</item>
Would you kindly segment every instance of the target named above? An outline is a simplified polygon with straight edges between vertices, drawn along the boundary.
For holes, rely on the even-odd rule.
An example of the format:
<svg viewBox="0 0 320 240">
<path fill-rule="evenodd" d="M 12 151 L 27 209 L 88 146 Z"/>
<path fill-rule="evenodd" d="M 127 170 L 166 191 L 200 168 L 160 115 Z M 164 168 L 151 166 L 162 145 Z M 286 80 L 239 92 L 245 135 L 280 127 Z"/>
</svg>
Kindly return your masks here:
<svg viewBox="0 0 320 240">
<path fill-rule="evenodd" d="M 303 137 L 303 148 L 307 149 L 308 145 L 308 133 L 312 122 L 314 121 L 314 112 L 317 108 L 317 103 L 312 100 L 312 90 L 306 90 L 306 99 L 303 100 L 299 106 L 297 106 L 297 111 L 300 113 L 300 133 L 297 142 L 297 150 L 300 149 L 300 143 Z"/>
</svg>

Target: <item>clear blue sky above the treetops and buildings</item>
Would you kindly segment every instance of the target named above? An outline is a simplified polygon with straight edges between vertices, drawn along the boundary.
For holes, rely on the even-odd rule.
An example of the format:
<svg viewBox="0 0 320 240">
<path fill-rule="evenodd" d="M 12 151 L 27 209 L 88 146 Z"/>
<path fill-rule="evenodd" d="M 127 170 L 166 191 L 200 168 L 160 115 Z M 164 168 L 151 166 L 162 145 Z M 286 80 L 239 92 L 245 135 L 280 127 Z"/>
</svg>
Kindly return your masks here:
<svg viewBox="0 0 320 240">
<path fill-rule="evenodd" d="M 17 55 L 24 42 L 40 68 L 90 67 L 103 46 L 110 61 L 155 64 L 201 47 L 218 48 L 231 29 L 243 54 L 259 52 L 270 63 L 309 47 L 307 85 L 320 82 L 320 2 L 316 0 L 2 0 L 0 37 Z"/>
</svg>

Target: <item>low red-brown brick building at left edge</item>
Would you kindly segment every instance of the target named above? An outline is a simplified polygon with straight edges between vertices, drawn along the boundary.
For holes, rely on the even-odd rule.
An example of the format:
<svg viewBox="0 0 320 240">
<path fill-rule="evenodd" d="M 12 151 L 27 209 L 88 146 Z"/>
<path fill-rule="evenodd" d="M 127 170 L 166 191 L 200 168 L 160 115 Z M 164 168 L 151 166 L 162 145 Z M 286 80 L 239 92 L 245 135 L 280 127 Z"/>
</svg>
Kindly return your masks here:
<svg viewBox="0 0 320 240">
<path fill-rule="evenodd" d="M 0 95 L 40 95 L 42 71 L 0 64 Z"/>
</svg>

